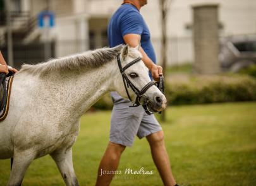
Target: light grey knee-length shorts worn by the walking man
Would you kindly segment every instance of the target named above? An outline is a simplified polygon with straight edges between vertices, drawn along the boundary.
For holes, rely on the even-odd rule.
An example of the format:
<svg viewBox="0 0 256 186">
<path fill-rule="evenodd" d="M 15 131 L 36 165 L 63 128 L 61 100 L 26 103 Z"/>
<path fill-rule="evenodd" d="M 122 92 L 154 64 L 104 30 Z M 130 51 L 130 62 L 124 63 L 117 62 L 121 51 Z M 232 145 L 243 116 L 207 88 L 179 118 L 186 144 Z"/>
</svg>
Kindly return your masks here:
<svg viewBox="0 0 256 186">
<path fill-rule="evenodd" d="M 114 107 L 109 141 L 123 146 L 132 146 L 136 134 L 141 139 L 149 134 L 162 131 L 155 116 L 147 115 L 142 106 L 129 107 L 133 105 L 130 100 L 123 99 L 116 92 L 111 92 L 111 97 Z"/>
</svg>

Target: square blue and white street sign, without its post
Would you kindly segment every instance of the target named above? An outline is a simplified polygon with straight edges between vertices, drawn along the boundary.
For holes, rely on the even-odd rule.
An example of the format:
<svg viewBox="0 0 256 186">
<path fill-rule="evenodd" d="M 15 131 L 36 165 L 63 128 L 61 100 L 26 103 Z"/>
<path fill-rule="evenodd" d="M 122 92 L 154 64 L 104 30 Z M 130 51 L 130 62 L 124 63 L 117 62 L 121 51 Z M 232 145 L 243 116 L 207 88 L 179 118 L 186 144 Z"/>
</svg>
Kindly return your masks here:
<svg viewBox="0 0 256 186">
<path fill-rule="evenodd" d="M 54 26 L 54 13 L 52 11 L 41 11 L 37 16 L 38 26 L 40 28 Z"/>
</svg>

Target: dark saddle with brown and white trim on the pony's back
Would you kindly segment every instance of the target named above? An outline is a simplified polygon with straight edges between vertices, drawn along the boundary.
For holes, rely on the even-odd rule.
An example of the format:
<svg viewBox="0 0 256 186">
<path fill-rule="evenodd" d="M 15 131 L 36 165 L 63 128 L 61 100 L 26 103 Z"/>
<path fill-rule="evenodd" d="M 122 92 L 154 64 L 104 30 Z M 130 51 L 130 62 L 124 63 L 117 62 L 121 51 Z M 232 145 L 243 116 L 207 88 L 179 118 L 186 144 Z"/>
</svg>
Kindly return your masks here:
<svg viewBox="0 0 256 186">
<path fill-rule="evenodd" d="M 0 73 L 0 122 L 3 121 L 9 110 L 9 97 L 11 95 L 11 84 L 13 83 L 13 73 Z"/>
</svg>

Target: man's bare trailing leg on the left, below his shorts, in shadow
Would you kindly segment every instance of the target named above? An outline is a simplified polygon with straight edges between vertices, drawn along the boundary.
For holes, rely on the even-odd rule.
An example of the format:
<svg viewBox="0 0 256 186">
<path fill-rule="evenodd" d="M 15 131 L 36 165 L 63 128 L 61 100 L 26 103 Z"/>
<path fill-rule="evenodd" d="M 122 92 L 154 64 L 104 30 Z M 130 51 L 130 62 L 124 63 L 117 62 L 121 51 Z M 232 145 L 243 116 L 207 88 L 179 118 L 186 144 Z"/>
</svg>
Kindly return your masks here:
<svg viewBox="0 0 256 186">
<path fill-rule="evenodd" d="M 109 142 L 99 165 L 96 186 L 105 186 L 111 183 L 114 174 L 103 174 L 103 171 L 117 170 L 121 154 L 124 150 L 125 146 Z"/>
</svg>

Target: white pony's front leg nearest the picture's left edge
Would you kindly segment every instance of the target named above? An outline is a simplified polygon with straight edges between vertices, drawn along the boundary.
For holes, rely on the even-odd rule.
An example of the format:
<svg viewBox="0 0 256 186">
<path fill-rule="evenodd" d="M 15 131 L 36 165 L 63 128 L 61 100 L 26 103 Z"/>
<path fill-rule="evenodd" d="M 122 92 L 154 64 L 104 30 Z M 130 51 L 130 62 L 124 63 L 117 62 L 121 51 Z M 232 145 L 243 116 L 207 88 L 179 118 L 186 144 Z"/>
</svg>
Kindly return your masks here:
<svg viewBox="0 0 256 186">
<path fill-rule="evenodd" d="M 11 175 L 9 177 L 8 186 L 20 186 L 28 166 L 35 158 L 34 151 L 15 151 L 13 156 L 13 166 L 11 168 Z"/>
</svg>

